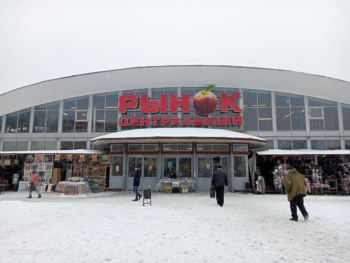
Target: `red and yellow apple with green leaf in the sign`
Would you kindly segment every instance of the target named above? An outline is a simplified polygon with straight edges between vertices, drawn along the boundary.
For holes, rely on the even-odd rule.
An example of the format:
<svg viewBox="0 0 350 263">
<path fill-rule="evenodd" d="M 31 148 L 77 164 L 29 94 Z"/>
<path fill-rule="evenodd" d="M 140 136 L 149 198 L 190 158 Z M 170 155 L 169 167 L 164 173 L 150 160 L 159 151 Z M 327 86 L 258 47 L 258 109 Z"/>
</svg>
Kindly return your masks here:
<svg viewBox="0 0 350 263">
<path fill-rule="evenodd" d="M 192 106 L 198 114 L 209 115 L 215 111 L 218 105 L 218 99 L 211 92 L 214 88 L 215 86 L 208 86 L 205 90 L 197 92 L 193 97 Z"/>
</svg>

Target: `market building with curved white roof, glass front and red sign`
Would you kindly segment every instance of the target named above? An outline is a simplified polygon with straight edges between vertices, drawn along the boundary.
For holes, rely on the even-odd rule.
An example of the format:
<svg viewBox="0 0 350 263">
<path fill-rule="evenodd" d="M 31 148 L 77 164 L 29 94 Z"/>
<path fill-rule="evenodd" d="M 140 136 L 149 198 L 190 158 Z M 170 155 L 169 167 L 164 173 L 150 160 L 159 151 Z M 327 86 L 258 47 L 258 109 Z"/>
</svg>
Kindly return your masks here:
<svg viewBox="0 0 350 263">
<path fill-rule="evenodd" d="M 137 67 L 43 81 L 0 95 L 2 162 L 23 151 L 98 150 L 110 155 L 107 189 L 132 189 L 138 164 L 141 188 L 173 170 L 193 178 L 195 190 L 209 190 L 222 165 L 227 190 L 243 190 L 249 151 L 346 153 L 349 90 L 350 82 L 325 76 L 235 66 Z"/>
</svg>

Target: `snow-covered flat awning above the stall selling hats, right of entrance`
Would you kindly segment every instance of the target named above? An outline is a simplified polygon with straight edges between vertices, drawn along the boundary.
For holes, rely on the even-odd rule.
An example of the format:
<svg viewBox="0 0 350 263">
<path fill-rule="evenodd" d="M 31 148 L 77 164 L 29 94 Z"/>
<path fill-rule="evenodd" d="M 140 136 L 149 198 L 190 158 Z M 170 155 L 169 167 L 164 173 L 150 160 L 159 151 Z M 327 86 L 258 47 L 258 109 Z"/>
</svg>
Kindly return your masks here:
<svg viewBox="0 0 350 263">
<path fill-rule="evenodd" d="M 335 155 L 350 154 L 350 150 L 280 150 L 268 149 L 267 151 L 255 151 L 259 155 Z"/>
</svg>

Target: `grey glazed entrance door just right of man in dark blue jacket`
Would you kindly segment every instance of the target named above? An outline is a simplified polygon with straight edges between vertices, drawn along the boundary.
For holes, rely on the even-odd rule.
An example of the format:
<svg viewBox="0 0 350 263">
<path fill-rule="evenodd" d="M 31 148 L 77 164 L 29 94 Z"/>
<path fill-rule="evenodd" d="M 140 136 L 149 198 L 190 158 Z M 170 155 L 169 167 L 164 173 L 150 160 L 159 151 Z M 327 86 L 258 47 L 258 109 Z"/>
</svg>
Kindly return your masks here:
<svg viewBox="0 0 350 263">
<path fill-rule="evenodd" d="M 142 170 L 142 190 L 154 189 L 157 184 L 157 157 L 144 157 L 144 169 Z M 140 183 L 141 186 L 141 183 Z"/>
</svg>

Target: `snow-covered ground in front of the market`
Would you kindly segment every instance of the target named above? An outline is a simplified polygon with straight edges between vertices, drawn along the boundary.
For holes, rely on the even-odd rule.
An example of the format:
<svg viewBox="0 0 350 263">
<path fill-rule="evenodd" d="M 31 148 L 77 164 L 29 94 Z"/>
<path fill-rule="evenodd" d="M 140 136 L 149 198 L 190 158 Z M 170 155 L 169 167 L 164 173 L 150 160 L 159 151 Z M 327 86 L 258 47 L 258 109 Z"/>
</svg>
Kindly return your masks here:
<svg viewBox="0 0 350 263">
<path fill-rule="evenodd" d="M 1 262 L 349 262 L 346 196 L 307 196 L 298 222 L 285 195 L 226 192 L 223 207 L 209 192 L 152 192 L 152 206 L 131 191 L 27 196 L 0 195 Z"/>
</svg>

